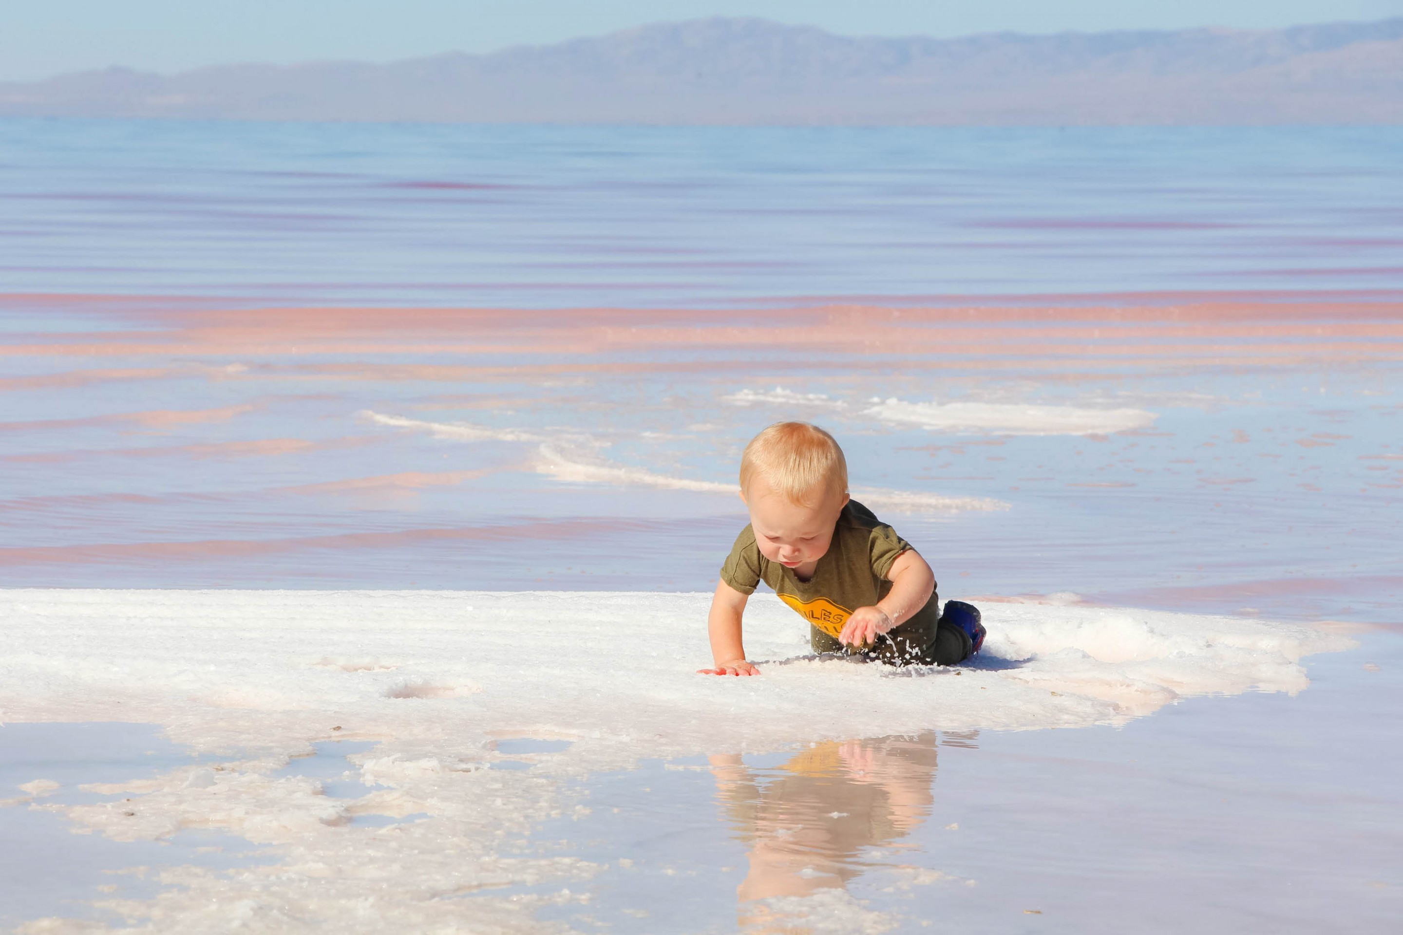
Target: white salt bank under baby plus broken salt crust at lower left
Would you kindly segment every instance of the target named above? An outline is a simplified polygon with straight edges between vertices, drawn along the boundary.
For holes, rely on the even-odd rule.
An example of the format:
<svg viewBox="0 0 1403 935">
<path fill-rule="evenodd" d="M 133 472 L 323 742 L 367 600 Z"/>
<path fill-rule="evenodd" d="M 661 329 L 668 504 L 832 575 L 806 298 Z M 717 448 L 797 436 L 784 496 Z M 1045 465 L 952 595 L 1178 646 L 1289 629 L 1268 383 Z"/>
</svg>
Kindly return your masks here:
<svg viewBox="0 0 1403 935">
<path fill-rule="evenodd" d="M 212 828 L 276 859 L 166 869 L 171 889 L 154 899 L 104 903 L 139 924 L 126 931 L 561 931 L 533 913 L 588 899 L 579 882 L 603 866 L 511 842 L 585 813 L 575 781 L 593 772 L 927 729 L 1122 723 L 1187 695 L 1301 691 L 1302 656 L 1351 645 L 1260 620 L 989 603 L 974 664 L 894 670 L 814 657 L 803 621 L 756 596 L 746 643 L 763 674 L 718 678 L 694 673 L 709 662 L 707 606 L 651 593 L 6 590 L 0 711 L 160 723 L 220 757 L 94 789 L 122 793 L 109 802 L 28 800 L 80 831 Z M 505 771 L 492 768 L 505 737 L 574 743 L 515 754 L 533 765 Z M 334 739 L 377 742 L 348 757 L 358 798 L 278 775 Z M 369 814 L 428 817 L 356 823 Z M 522 885 L 540 889 L 492 893 Z"/>
</svg>

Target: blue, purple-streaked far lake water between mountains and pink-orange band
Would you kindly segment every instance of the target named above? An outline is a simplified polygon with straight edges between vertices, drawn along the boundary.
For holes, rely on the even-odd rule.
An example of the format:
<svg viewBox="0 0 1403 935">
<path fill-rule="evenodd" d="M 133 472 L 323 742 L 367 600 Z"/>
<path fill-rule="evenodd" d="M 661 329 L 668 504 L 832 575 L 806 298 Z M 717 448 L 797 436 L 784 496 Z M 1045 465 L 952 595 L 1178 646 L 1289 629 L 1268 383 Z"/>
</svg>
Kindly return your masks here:
<svg viewBox="0 0 1403 935">
<path fill-rule="evenodd" d="M 508 308 L 1399 289 L 1396 128 L 0 122 L 7 292 Z"/>
</svg>

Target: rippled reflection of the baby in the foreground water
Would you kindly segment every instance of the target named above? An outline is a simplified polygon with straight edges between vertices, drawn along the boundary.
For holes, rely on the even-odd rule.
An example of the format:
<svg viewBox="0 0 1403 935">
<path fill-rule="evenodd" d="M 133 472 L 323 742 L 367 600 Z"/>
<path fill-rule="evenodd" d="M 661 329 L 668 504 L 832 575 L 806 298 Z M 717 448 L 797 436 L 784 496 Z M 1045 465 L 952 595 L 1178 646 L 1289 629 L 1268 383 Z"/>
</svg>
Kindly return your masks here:
<svg viewBox="0 0 1403 935">
<path fill-rule="evenodd" d="M 845 887 L 863 848 L 891 844 L 934 800 L 936 735 L 821 743 L 760 782 L 739 756 L 711 757 L 727 814 L 751 845 L 741 922 L 767 917 L 753 900 Z"/>
</svg>

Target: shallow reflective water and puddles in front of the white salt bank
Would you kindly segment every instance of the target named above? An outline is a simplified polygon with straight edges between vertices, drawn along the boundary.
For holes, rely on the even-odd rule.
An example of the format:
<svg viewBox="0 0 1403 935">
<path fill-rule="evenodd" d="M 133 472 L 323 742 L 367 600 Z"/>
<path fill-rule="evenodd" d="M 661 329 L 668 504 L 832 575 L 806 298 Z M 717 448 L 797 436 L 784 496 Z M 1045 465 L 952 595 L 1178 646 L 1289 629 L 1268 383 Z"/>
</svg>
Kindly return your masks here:
<svg viewBox="0 0 1403 935">
<path fill-rule="evenodd" d="M 1403 910 L 1403 800 L 1396 756 L 1378 746 L 1396 737 L 1400 673 L 1403 639 L 1374 632 L 1358 649 L 1316 657 L 1298 697 L 1188 699 L 1122 728 L 930 730 L 645 760 L 570 779 L 561 798 L 571 807 L 502 841 L 508 861 L 584 861 L 595 868 L 585 879 L 455 899 L 467 917 L 481 896 L 536 899 L 535 918 L 572 931 L 1388 932 Z M 123 753 L 170 746 L 142 725 L 4 730 L 14 728 L 42 732 L 51 747 L 108 737 L 63 772 L 65 788 L 136 775 Z M 505 737 L 495 749 L 519 757 L 506 763 L 526 767 L 526 781 L 589 743 Z M 320 743 L 275 778 L 314 777 L 354 802 L 375 789 L 348 781 L 356 767 L 347 754 L 375 756 L 375 746 Z M 59 775 L 52 760 L 10 772 Z M 109 880 L 121 885 L 115 896 L 150 899 L 160 890 L 150 872 L 118 873 L 133 864 L 224 873 L 274 864 L 281 851 L 240 858 L 253 845 L 229 834 L 182 831 L 167 844 L 55 834 L 59 816 L 20 807 L 0 809 L 4 840 L 24 847 L 31 814 L 49 828 L 36 842 L 73 844 L 25 847 L 22 868 L 0 886 L 8 924 L 97 913 L 84 903 Z M 450 819 L 358 814 L 340 834 L 415 821 Z"/>
</svg>

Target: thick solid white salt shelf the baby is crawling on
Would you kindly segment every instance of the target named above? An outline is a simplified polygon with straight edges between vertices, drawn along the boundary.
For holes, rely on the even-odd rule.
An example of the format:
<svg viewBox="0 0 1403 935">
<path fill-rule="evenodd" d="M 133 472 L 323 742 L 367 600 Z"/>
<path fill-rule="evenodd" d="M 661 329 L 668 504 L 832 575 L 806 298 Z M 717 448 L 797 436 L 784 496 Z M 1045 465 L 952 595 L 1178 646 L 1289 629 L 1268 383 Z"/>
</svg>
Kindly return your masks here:
<svg viewBox="0 0 1403 935">
<path fill-rule="evenodd" d="M 0 716 L 119 712 L 224 754 L 398 737 L 383 757 L 417 750 L 408 737 L 442 735 L 470 739 L 462 750 L 476 761 L 492 736 L 584 737 L 612 750 L 609 765 L 629 765 L 634 754 L 619 750 L 630 744 L 690 756 L 932 728 L 1121 723 L 1184 695 L 1296 692 L 1309 684 L 1301 657 L 1351 645 L 1237 617 L 986 603 L 989 636 L 972 664 L 890 669 L 812 656 L 804 622 L 773 594 L 756 594 L 745 636 L 765 674 L 706 678 L 694 670 L 710 660 L 709 601 L 627 592 L 3 590 Z M 832 705 L 835 697 L 845 702 Z M 815 709 L 825 711 L 821 723 Z M 450 735 L 442 718 L 455 722 Z M 333 735 L 334 725 L 344 732 Z"/>
</svg>

